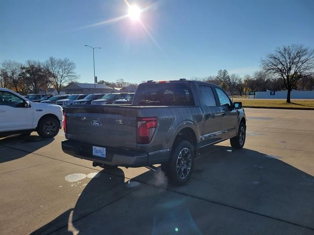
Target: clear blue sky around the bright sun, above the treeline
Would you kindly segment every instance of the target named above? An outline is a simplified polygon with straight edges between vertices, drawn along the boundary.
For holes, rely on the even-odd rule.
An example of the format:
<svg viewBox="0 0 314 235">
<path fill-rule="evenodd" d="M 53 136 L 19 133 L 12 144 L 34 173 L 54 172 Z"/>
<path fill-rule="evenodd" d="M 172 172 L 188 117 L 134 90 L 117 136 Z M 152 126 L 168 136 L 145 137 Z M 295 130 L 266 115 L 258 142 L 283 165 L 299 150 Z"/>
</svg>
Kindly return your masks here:
<svg viewBox="0 0 314 235">
<path fill-rule="evenodd" d="M 216 75 L 220 69 L 245 75 L 275 47 L 314 47 L 312 0 L 129 1 L 141 21 L 85 27 L 122 15 L 121 0 L 1 0 L 0 62 L 67 57 L 80 82 L 128 82 Z M 153 40 L 153 39 L 154 40 Z"/>
</svg>

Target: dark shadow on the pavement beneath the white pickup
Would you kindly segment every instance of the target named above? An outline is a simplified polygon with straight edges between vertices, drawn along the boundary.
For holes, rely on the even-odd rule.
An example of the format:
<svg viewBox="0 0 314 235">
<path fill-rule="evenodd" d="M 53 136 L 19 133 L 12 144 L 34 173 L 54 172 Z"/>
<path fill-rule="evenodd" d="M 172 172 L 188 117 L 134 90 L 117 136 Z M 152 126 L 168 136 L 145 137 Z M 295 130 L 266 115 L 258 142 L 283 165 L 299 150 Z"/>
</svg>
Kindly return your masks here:
<svg viewBox="0 0 314 235">
<path fill-rule="evenodd" d="M 14 135 L 6 138 L 0 138 L 0 164 L 16 160 L 40 149 L 54 140 L 43 139 L 40 136 L 22 136 Z M 21 149 L 19 146 L 27 146 L 27 150 Z M 10 151 L 6 151 L 9 148 Z"/>
</svg>

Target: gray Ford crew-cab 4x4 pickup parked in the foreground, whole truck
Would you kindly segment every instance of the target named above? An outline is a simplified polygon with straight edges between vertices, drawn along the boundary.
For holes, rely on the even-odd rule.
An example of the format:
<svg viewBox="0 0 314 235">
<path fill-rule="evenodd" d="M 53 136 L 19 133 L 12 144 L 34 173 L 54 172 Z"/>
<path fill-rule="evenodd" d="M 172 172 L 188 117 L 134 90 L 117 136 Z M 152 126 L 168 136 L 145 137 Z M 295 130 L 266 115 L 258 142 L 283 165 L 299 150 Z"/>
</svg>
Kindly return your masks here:
<svg viewBox="0 0 314 235">
<path fill-rule="evenodd" d="M 65 108 L 62 149 L 94 166 L 161 169 L 172 183 L 191 176 L 200 148 L 230 139 L 245 142 L 241 102 L 217 85 L 180 79 L 138 86 L 131 105 L 74 105 Z"/>
</svg>

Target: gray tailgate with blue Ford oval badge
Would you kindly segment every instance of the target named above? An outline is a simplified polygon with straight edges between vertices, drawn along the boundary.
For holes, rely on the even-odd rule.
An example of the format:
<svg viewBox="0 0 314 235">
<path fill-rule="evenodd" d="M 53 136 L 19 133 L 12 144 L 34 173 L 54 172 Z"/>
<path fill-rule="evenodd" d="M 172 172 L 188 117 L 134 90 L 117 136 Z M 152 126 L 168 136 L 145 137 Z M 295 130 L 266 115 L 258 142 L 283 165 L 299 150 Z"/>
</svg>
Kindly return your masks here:
<svg viewBox="0 0 314 235">
<path fill-rule="evenodd" d="M 67 138 L 95 145 L 136 149 L 136 109 L 119 105 L 66 107 Z"/>
</svg>

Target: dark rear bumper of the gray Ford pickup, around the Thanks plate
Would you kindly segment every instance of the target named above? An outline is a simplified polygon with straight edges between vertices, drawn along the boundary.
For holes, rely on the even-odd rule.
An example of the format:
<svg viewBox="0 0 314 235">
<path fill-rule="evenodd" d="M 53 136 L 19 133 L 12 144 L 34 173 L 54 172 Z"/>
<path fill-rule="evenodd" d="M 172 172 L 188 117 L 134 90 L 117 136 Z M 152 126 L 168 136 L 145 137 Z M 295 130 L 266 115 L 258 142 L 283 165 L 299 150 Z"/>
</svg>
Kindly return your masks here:
<svg viewBox="0 0 314 235">
<path fill-rule="evenodd" d="M 97 157 L 92 155 L 92 144 L 81 143 L 77 141 L 62 141 L 63 152 L 74 157 L 93 161 L 96 163 L 117 165 L 126 167 L 140 167 L 153 164 L 161 164 L 169 161 L 171 148 L 161 149 L 154 152 L 136 152 L 115 148 L 106 148 L 106 157 Z M 94 145 L 95 146 L 95 145 Z"/>
</svg>

